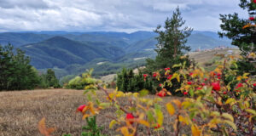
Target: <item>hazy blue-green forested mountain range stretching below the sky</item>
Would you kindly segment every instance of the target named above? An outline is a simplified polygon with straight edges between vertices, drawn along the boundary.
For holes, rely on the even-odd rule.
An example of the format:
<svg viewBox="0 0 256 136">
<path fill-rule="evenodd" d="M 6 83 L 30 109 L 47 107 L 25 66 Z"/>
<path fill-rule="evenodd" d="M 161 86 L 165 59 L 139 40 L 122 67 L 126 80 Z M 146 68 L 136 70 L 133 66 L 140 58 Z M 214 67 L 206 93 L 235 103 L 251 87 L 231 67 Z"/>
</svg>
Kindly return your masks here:
<svg viewBox="0 0 256 136">
<path fill-rule="evenodd" d="M 24 50 L 37 69 L 55 68 L 67 72 L 62 75 L 68 75 L 73 74 L 70 67 L 79 73 L 90 65 L 99 67 L 99 70 L 104 65 L 105 69 L 109 66 L 111 70 L 125 64 L 142 65 L 144 59 L 156 55 L 154 48 L 157 41 L 154 37 L 157 34 L 151 31 L 20 31 L 0 33 L 0 44 L 11 43 L 15 48 Z M 220 39 L 212 31 L 194 31 L 187 45 L 192 50 L 231 46 L 230 40 Z"/>
</svg>

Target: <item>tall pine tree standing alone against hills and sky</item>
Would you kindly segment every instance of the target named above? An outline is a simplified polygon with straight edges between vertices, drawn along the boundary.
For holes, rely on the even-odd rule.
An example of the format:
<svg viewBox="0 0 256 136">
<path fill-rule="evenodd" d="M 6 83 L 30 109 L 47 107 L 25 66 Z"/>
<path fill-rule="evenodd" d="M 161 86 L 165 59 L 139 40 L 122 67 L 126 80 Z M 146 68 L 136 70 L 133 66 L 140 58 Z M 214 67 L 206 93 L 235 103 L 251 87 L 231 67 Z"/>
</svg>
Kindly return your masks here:
<svg viewBox="0 0 256 136">
<path fill-rule="evenodd" d="M 173 12 L 172 18 L 166 19 L 165 26 L 157 26 L 154 32 L 158 33 L 156 37 L 156 53 L 155 59 L 147 59 L 146 71 L 152 72 L 165 67 L 172 67 L 174 64 L 183 62 L 184 59 L 180 59 L 184 52 L 190 50 L 188 46 L 185 46 L 187 37 L 190 36 L 192 29 L 189 27 L 183 27 L 185 21 L 181 17 L 179 8 Z"/>
</svg>

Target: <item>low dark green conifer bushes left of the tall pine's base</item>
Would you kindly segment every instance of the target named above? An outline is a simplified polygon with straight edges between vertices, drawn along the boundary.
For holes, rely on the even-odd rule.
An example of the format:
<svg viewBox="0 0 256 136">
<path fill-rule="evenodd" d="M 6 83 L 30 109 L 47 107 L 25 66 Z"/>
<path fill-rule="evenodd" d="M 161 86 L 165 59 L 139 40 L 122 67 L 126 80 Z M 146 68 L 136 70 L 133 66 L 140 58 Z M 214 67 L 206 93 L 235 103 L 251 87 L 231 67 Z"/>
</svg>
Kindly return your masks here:
<svg viewBox="0 0 256 136">
<path fill-rule="evenodd" d="M 142 89 L 148 89 L 149 92 L 154 93 L 153 82 L 148 80 L 148 77 L 144 77 L 142 71 L 134 74 L 132 70 L 127 71 L 124 68 L 118 73 L 116 85 L 123 92 L 138 92 Z"/>
</svg>

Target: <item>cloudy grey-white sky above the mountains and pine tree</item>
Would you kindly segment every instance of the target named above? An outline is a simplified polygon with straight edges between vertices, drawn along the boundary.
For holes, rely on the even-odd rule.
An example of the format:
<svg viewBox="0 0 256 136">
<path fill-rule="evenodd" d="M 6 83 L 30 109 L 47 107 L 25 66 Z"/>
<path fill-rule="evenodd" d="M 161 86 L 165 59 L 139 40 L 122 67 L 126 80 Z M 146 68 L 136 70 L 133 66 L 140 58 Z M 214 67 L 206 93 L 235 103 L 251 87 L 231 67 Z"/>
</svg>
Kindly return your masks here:
<svg viewBox="0 0 256 136">
<path fill-rule="evenodd" d="M 180 8 L 185 26 L 220 31 L 240 0 L 0 0 L 0 31 L 153 31 Z"/>
</svg>

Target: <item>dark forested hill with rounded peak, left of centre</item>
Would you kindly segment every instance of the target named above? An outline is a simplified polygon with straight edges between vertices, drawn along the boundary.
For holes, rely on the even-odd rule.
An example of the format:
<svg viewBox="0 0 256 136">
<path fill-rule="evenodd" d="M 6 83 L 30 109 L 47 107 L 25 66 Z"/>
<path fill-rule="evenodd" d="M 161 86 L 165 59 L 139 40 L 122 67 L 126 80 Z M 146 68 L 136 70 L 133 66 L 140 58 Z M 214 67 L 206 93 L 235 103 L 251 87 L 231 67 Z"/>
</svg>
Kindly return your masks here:
<svg viewBox="0 0 256 136">
<path fill-rule="evenodd" d="M 85 64 L 96 58 L 113 59 L 125 54 L 121 48 L 105 42 L 81 43 L 65 37 L 52 37 L 43 42 L 26 44 L 20 47 L 32 58 L 36 68 L 64 68 L 72 64 Z"/>
</svg>

